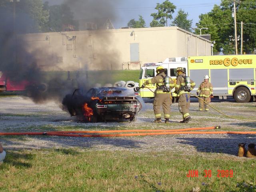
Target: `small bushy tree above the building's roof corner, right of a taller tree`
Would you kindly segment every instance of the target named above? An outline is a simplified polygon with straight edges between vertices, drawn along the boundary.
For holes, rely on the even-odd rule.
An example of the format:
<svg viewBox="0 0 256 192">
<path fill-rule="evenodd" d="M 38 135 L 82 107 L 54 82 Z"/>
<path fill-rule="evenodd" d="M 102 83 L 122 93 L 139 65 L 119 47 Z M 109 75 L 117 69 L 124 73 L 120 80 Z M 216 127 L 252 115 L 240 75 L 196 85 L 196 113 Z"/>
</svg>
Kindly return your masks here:
<svg viewBox="0 0 256 192">
<path fill-rule="evenodd" d="M 172 25 L 178 26 L 184 30 L 192 31 L 192 20 L 188 20 L 188 13 L 185 13 L 182 9 L 178 11 L 178 14 L 174 21 L 172 22 Z"/>
</svg>

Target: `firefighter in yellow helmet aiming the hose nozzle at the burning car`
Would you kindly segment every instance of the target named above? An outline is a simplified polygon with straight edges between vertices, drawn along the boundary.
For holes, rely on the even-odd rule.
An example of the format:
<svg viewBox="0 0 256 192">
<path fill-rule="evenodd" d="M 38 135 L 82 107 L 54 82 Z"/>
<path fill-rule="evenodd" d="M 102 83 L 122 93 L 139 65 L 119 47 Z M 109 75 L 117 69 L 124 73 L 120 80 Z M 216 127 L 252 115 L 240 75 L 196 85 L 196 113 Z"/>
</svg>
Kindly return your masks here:
<svg viewBox="0 0 256 192">
<path fill-rule="evenodd" d="M 161 105 L 164 110 L 165 123 L 169 122 L 170 118 L 170 105 L 172 104 L 171 93 L 164 91 L 164 78 L 166 74 L 164 73 L 164 68 L 159 66 L 156 68 L 156 76 L 152 79 L 147 80 L 143 83 L 142 88 L 148 84 L 156 84 L 155 98 L 153 102 L 153 109 L 155 113 L 156 120 L 154 122 L 162 122 L 161 120 Z M 172 78 L 170 78 L 170 90 L 174 88 L 174 83 Z"/>
</svg>

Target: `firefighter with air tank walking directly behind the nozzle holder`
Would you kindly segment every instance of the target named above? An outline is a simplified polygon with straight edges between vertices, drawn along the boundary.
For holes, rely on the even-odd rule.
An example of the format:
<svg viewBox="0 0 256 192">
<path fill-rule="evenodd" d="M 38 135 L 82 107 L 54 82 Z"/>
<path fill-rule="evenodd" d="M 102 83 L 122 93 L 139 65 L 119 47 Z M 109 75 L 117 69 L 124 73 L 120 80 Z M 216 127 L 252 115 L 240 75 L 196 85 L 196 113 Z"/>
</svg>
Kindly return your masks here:
<svg viewBox="0 0 256 192">
<path fill-rule="evenodd" d="M 190 90 L 192 90 L 196 83 L 190 80 L 190 88 L 189 82 L 186 84 L 186 73 L 183 67 L 177 68 L 177 81 L 175 85 L 175 92 L 178 96 L 178 106 L 180 113 L 182 114 L 183 120 L 180 123 L 188 123 L 192 118 L 189 114 L 190 107 Z"/>
</svg>

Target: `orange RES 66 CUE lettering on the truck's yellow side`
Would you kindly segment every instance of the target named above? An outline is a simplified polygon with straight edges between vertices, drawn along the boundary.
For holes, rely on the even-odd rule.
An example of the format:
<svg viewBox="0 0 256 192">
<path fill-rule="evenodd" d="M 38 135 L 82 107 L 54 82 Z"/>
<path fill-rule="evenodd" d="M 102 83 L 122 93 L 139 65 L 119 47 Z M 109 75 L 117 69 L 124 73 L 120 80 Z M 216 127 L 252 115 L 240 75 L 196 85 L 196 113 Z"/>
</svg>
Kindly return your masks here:
<svg viewBox="0 0 256 192">
<path fill-rule="evenodd" d="M 252 64 L 252 59 L 225 58 L 224 60 L 210 60 L 210 65 L 224 65 L 226 67 L 238 66 L 238 64 Z"/>
</svg>

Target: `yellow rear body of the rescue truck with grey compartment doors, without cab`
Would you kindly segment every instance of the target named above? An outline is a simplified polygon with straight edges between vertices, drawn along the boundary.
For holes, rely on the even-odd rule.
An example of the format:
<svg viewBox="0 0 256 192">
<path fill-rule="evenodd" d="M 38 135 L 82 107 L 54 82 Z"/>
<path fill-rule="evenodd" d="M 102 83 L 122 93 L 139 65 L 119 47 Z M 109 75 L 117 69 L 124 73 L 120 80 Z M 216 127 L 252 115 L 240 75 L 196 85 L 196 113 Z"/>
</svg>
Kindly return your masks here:
<svg viewBox="0 0 256 192">
<path fill-rule="evenodd" d="M 249 102 L 256 95 L 256 55 L 216 55 L 188 57 L 188 75 L 198 85 L 210 76 L 213 95 L 233 96 L 236 102 Z"/>
</svg>

